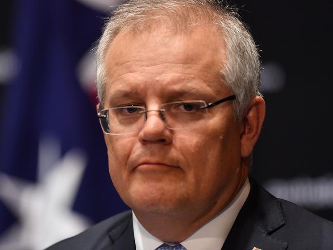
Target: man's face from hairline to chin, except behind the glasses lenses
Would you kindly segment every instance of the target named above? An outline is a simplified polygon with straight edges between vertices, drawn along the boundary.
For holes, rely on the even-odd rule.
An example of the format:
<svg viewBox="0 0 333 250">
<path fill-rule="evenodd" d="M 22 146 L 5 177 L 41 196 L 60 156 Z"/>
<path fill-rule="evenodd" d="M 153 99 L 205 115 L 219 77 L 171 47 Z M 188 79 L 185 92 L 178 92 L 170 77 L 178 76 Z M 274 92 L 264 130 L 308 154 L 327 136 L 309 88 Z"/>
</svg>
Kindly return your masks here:
<svg viewBox="0 0 333 250">
<path fill-rule="evenodd" d="M 135 103 L 157 110 L 165 102 L 231 95 L 219 76 L 223 58 L 221 41 L 207 28 L 120 33 L 106 55 L 103 109 Z M 191 129 L 169 130 L 149 112 L 139 133 L 105 135 L 113 184 L 134 212 L 202 216 L 230 202 L 244 181 L 242 126 L 232 101 L 207 111 L 203 125 Z"/>
</svg>

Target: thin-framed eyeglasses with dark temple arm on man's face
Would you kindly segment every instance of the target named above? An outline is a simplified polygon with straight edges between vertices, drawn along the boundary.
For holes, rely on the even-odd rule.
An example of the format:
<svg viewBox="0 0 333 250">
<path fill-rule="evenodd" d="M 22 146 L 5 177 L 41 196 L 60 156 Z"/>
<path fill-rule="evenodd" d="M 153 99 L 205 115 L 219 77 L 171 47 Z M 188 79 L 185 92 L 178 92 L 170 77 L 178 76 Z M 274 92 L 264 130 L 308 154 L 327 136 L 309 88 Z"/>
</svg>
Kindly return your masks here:
<svg viewBox="0 0 333 250">
<path fill-rule="evenodd" d="M 100 110 L 97 117 L 103 131 L 110 135 L 138 133 L 148 118 L 148 112 L 159 112 L 168 129 L 189 129 L 199 126 L 207 118 L 207 109 L 234 99 L 236 96 L 231 95 L 208 104 L 203 100 L 174 101 L 163 103 L 157 110 L 146 110 L 133 104 Z"/>
</svg>

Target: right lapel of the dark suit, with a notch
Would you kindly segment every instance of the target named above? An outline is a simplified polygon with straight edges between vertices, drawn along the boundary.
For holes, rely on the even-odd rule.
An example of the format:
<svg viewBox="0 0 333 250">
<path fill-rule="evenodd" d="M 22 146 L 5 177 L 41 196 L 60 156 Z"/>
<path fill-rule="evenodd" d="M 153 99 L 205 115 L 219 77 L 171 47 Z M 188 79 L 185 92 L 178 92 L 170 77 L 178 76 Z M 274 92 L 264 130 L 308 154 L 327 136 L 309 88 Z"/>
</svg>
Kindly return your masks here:
<svg viewBox="0 0 333 250">
<path fill-rule="evenodd" d="M 270 236 L 285 224 L 279 201 L 253 179 L 250 182 L 251 191 L 222 250 L 287 249 L 287 242 Z"/>
</svg>

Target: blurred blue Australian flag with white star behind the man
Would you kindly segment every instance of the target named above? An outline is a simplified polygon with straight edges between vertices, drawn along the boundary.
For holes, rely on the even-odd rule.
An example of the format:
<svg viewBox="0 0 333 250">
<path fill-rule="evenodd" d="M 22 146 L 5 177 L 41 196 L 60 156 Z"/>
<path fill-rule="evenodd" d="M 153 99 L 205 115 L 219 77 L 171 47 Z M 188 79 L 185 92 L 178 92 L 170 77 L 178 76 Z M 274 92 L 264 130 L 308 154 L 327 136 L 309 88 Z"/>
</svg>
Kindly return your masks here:
<svg viewBox="0 0 333 250">
<path fill-rule="evenodd" d="M 43 249 L 126 210 L 96 117 L 92 49 L 116 0 L 21 0 L 0 145 L 0 249 Z M 104 9 L 104 11 L 102 11 Z"/>
</svg>

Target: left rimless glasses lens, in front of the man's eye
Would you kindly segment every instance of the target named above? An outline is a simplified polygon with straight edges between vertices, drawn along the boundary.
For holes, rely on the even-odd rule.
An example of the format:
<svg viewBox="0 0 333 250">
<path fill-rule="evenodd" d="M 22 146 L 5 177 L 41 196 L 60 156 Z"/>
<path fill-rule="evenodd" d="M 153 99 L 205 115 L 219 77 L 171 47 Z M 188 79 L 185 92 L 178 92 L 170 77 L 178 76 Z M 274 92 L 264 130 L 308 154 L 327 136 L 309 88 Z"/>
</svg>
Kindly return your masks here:
<svg viewBox="0 0 333 250">
<path fill-rule="evenodd" d="M 102 129 L 107 134 L 121 135 L 140 131 L 144 122 L 144 108 L 127 106 L 103 110 L 100 117 Z M 102 112 L 100 112 L 102 114 Z"/>
</svg>

